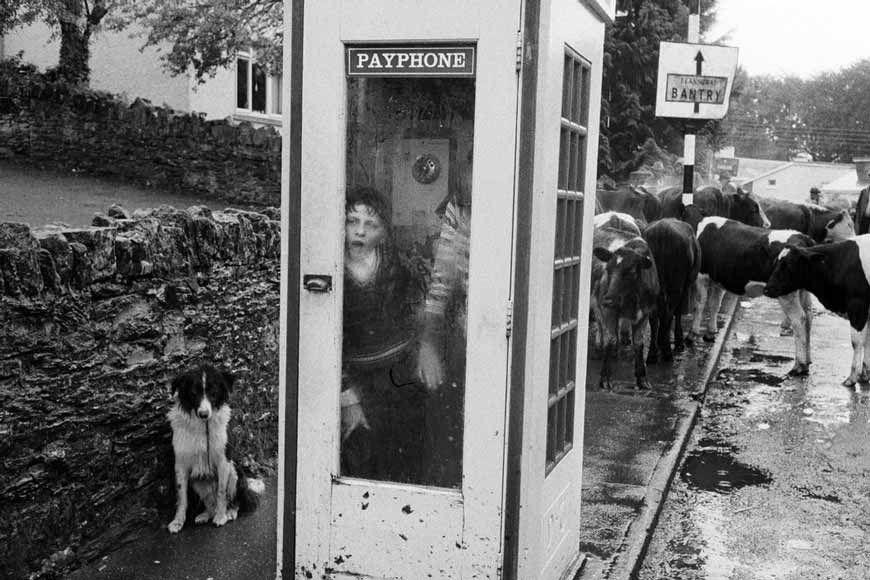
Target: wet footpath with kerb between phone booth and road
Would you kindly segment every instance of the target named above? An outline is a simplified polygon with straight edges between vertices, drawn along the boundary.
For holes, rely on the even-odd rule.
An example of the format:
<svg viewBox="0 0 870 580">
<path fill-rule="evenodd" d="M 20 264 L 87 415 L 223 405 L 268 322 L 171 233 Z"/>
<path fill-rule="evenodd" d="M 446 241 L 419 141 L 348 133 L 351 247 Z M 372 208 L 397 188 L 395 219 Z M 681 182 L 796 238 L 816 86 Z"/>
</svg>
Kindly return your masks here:
<svg viewBox="0 0 870 580">
<path fill-rule="evenodd" d="M 628 580 L 640 565 L 735 308 L 729 295 L 716 342 L 687 348 L 673 364 L 648 366 L 650 391 L 634 390 L 629 353 L 621 354 L 613 392 L 598 389 L 600 361 L 590 360 L 580 545 L 587 558 L 580 580 Z"/>
</svg>

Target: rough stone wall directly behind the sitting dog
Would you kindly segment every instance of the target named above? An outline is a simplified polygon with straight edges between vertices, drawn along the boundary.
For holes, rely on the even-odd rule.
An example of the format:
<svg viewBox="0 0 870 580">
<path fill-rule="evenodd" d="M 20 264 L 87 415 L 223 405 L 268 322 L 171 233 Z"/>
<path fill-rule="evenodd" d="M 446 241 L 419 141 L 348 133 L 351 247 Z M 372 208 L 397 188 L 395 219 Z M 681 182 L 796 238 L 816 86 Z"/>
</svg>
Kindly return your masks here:
<svg viewBox="0 0 870 580">
<path fill-rule="evenodd" d="M 234 455 L 275 468 L 277 219 L 162 207 L 0 224 L 0 578 L 53 577 L 171 519 L 169 384 L 199 361 L 239 379 Z"/>
</svg>

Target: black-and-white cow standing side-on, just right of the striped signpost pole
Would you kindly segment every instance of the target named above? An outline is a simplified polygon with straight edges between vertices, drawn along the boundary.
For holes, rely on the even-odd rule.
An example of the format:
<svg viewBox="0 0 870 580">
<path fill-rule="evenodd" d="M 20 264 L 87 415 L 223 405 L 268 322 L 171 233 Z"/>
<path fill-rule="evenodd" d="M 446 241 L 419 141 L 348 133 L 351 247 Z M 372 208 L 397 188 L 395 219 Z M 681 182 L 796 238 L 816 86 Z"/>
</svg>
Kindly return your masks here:
<svg viewBox="0 0 870 580">
<path fill-rule="evenodd" d="M 709 320 L 704 339 L 712 341 L 717 332 L 716 314 L 725 290 L 750 296 L 760 290 L 770 278 L 777 257 L 786 246 L 811 247 L 813 239 L 797 230 L 768 230 L 725 219 L 707 217 L 698 224 L 698 243 L 701 246 L 701 273 L 698 292 L 707 291 L 710 281 Z M 754 284 L 753 284 L 754 283 Z M 755 294 L 757 295 L 757 294 Z M 812 301 L 805 291 L 783 293 L 778 296 L 783 313 L 788 318 L 795 339 L 795 363 L 789 375 L 805 375 L 810 365 L 810 330 Z M 699 300 L 692 320 L 692 334 L 701 333 L 704 301 Z"/>
</svg>

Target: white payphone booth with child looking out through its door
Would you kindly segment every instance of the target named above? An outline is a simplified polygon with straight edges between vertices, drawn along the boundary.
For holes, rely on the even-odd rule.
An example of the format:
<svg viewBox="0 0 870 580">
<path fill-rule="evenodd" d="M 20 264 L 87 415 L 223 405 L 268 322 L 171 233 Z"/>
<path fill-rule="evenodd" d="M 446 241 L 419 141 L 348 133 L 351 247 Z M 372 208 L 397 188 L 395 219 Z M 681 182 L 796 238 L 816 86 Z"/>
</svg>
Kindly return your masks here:
<svg viewBox="0 0 870 580">
<path fill-rule="evenodd" d="M 286 3 L 283 577 L 578 570 L 612 15 Z"/>
</svg>

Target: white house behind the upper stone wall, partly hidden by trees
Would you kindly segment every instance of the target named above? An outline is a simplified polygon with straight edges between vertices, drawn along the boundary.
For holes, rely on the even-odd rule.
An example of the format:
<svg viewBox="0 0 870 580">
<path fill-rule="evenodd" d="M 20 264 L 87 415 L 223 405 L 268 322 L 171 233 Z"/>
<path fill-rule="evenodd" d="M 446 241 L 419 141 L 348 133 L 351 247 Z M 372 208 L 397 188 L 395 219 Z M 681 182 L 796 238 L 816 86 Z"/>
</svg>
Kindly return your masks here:
<svg viewBox="0 0 870 580">
<path fill-rule="evenodd" d="M 135 26 L 121 32 L 101 30 L 91 41 L 91 88 L 148 99 L 178 111 L 204 113 L 208 119 L 280 125 L 282 79 L 267 75 L 250 54 L 240 54 L 234 66 L 199 84 L 192 73 L 171 76 L 163 70 L 154 47 L 140 50 L 143 37 Z M 57 65 L 59 41 L 39 22 L 0 37 L 0 56 L 22 54 L 42 70 Z"/>
</svg>

